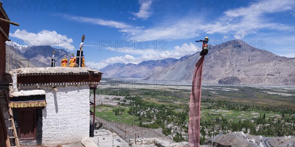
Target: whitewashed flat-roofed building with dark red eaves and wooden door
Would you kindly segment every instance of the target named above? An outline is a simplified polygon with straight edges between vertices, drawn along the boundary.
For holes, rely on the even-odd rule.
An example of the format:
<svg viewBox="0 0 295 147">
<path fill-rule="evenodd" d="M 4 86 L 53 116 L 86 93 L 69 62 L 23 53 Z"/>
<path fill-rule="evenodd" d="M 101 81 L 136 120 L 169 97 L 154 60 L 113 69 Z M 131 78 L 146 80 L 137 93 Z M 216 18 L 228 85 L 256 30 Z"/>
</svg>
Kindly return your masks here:
<svg viewBox="0 0 295 147">
<path fill-rule="evenodd" d="M 18 137 L 57 146 L 89 137 L 89 91 L 102 73 L 89 68 L 21 68 L 11 71 L 11 107 Z"/>
</svg>

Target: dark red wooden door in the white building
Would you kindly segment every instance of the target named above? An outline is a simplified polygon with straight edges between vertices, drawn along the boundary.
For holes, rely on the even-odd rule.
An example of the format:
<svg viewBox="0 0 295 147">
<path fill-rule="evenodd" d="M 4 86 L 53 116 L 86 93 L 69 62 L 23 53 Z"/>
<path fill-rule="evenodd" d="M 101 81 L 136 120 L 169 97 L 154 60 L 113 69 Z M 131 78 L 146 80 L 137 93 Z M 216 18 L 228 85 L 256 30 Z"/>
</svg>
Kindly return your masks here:
<svg viewBox="0 0 295 147">
<path fill-rule="evenodd" d="M 19 138 L 20 140 L 36 140 L 37 110 L 20 110 Z"/>
</svg>

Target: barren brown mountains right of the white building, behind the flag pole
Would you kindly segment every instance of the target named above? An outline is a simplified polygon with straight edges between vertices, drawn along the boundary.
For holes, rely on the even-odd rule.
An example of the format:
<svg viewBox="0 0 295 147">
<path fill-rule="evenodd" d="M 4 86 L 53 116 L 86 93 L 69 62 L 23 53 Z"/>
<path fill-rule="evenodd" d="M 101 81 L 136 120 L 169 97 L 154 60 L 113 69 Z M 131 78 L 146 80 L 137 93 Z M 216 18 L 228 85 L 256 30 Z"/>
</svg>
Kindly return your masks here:
<svg viewBox="0 0 295 147">
<path fill-rule="evenodd" d="M 110 77 L 137 77 L 147 80 L 192 80 L 199 53 L 180 59 L 144 61 L 148 64 L 114 64 L 101 69 Z M 151 63 L 149 63 L 151 62 Z M 165 62 L 166 64 L 154 64 Z M 295 84 L 295 58 L 275 55 L 240 41 L 209 46 L 203 80 L 220 84 Z"/>
</svg>

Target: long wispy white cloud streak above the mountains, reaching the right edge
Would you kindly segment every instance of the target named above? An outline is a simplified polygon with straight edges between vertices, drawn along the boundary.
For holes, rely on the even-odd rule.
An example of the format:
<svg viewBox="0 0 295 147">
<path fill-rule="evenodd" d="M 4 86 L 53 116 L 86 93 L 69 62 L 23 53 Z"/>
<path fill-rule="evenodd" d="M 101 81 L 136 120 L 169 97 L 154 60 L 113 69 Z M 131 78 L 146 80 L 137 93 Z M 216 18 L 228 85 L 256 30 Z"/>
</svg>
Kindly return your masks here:
<svg viewBox="0 0 295 147">
<path fill-rule="evenodd" d="M 245 10 L 234 9 L 224 12 L 218 19 L 204 22 L 204 18 L 187 16 L 169 22 L 157 23 L 140 33 L 132 34 L 131 40 L 177 40 L 194 38 L 199 33 L 227 34 L 236 39 L 242 39 L 249 34 L 257 34 L 261 30 L 294 29 L 294 26 L 271 22 L 268 15 L 294 10 L 294 1 L 289 0 L 266 0 L 255 2 L 255 7 L 250 3 Z"/>
</svg>

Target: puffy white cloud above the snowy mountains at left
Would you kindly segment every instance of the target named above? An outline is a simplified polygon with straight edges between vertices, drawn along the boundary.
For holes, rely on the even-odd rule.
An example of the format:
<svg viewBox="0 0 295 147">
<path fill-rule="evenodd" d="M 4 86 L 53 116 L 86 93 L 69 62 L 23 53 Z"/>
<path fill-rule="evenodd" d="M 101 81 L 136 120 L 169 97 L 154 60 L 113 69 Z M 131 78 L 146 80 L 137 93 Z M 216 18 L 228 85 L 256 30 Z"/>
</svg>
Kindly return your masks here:
<svg viewBox="0 0 295 147">
<path fill-rule="evenodd" d="M 58 34 L 56 31 L 42 30 L 38 33 L 17 29 L 14 33 L 9 33 L 11 37 L 23 40 L 29 46 L 53 46 L 62 49 L 74 50 L 72 38 Z"/>
</svg>

